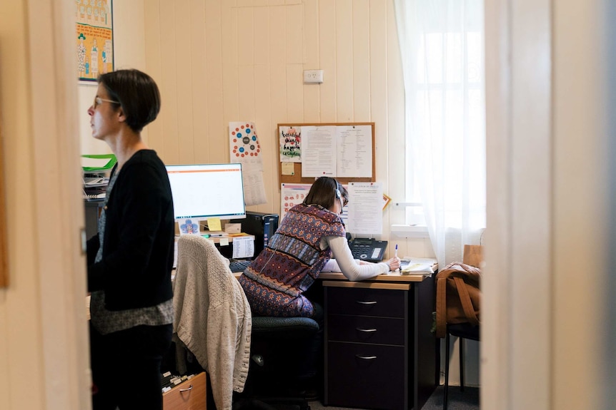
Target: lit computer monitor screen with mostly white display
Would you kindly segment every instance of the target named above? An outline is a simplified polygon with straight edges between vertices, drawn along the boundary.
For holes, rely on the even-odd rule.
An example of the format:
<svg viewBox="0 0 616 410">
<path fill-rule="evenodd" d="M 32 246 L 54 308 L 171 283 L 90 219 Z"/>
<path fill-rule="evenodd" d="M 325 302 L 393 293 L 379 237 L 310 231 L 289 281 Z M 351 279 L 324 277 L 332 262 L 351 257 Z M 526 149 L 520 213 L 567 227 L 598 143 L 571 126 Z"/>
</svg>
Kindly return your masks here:
<svg viewBox="0 0 616 410">
<path fill-rule="evenodd" d="M 246 217 L 242 164 L 167 165 L 176 219 Z"/>
</svg>

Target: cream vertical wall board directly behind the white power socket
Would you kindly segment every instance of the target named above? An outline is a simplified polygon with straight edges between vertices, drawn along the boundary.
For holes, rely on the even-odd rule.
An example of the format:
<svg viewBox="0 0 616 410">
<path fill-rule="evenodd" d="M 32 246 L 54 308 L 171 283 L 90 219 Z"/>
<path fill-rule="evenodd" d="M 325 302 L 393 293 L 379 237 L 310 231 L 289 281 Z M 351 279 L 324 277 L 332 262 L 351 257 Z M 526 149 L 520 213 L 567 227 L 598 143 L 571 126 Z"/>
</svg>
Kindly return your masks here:
<svg viewBox="0 0 616 410">
<path fill-rule="evenodd" d="M 304 70 L 317 70 L 320 68 L 319 1 L 306 0 L 304 1 Z M 329 79 L 331 80 L 331 78 Z M 322 85 L 320 84 L 304 85 L 304 121 L 307 123 L 318 123 L 321 121 L 319 101 L 321 87 Z"/>
</svg>

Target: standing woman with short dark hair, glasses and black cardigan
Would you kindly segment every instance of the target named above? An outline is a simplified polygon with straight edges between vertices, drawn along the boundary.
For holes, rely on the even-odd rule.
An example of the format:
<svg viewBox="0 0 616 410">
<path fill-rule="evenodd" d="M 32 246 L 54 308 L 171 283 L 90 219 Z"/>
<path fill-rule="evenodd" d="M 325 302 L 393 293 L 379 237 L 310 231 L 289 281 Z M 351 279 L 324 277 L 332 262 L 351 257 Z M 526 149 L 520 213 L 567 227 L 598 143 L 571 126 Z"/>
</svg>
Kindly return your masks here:
<svg viewBox="0 0 616 410">
<path fill-rule="evenodd" d="M 92 136 L 118 160 L 98 234 L 87 243 L 94 410 L 162 409 L 160 365 L 172 338 L 174 213 L 167 171 L 141 130 L 160 111 L 154 80 L 101 74 Z"/>
</svg>

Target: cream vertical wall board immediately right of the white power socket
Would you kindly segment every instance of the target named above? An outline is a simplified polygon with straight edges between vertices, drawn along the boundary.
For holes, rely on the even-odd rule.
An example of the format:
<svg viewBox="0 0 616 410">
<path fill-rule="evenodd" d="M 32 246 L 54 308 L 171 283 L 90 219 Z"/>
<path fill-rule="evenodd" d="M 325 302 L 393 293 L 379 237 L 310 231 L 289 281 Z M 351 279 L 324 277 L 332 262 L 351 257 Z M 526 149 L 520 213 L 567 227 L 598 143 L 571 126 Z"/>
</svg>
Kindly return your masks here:
<svg viewBox="0 0 616 410">
<path fill-rule="evenodd" d="M 321 121 L 332 123 L 337 121 L 336 111 L 336 3 L 334 1 L 319 2 L 319 68 L 324 71 L 325 82 L 320 88 L 319 103 Z"/>
</svg>

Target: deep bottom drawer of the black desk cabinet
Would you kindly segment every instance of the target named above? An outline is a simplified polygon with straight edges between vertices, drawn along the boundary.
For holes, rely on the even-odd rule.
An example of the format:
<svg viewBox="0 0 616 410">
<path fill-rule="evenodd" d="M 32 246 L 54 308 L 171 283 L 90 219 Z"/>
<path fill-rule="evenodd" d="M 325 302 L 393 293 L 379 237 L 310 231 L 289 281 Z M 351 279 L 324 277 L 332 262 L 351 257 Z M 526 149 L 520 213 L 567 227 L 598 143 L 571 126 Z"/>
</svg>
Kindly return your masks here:
<svg viewBox="0 0 616 410">
<path fill-rule="evenodd" d="M 329 342 L 326 406 L 408 408 L 403 347 Z"/>
</svg>

